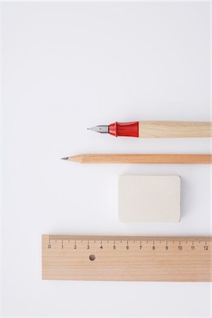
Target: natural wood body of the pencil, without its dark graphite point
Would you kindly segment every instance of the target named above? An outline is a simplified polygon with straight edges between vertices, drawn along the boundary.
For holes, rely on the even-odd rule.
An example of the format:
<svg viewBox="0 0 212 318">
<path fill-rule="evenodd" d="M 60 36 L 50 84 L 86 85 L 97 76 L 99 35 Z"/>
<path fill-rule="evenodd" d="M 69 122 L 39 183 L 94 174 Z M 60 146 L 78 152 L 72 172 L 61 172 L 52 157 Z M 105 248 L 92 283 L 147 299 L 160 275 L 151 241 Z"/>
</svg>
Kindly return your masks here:
<svg viewBox="0 0 212 318">
<path fill-rule="evenodd" d="M 76 163 L 161 163 L 161 164 L 189 164 L 212 163 L 210 154 L 82 154 L 69 157 L 69 161 Z"/>
</svg>

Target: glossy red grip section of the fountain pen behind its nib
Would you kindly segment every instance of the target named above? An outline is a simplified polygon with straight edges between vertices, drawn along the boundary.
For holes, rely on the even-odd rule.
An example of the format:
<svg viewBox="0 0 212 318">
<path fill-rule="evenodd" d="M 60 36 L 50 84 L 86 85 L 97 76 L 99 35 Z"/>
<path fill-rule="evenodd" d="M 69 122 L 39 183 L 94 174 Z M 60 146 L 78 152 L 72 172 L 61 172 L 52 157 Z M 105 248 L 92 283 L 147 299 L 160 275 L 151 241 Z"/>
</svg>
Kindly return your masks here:
<svg viewBox="0 0 212 318">
<path fill-rule="evenodd" d="M 139 122 L 114 122 L 109 126 L 113 136 L 139 137 Z"/>
</svg>

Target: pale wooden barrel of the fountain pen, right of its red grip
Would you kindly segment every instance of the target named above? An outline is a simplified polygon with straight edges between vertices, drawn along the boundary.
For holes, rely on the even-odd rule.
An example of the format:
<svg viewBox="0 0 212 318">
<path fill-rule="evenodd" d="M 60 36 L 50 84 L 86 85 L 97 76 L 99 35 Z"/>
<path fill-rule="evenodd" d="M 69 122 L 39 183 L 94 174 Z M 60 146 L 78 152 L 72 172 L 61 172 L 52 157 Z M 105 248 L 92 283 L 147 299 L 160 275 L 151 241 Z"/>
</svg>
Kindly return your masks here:
<svg viewBox="0 0 212 318">
<path fill-rule="evenodd" d="M 140 138 L 204 138 L 211 136 L 211 122 L 139 122 Z"/>
</svg>

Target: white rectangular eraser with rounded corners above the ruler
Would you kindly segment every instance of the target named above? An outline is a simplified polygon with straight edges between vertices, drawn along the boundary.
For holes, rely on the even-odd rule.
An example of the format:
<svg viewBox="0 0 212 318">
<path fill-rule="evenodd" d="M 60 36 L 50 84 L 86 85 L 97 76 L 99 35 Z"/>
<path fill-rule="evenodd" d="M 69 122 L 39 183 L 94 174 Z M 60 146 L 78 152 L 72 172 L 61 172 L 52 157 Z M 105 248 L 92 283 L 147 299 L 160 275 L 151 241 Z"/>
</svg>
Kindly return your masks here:
<svg viewBox="0 0 212 318">
<path fill-rule="evenodd" d="M 178 175 L 120 175 L 119 220 L 122 222 L 179 222 Z"/>
</svg>

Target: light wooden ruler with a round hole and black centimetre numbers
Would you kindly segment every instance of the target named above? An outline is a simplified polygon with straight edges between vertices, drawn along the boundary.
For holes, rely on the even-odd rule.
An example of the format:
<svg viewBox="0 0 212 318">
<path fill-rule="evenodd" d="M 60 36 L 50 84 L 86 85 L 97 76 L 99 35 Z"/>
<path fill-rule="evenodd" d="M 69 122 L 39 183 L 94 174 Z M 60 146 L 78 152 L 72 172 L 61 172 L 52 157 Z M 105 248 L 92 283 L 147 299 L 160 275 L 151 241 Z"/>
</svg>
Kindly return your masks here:
<svg viewBox="0 0 212 318">
<path fill-rule="evenodd" d="M 42 235 L 42 279 L 212 281 L 212 237 Z"/>
</svg>

